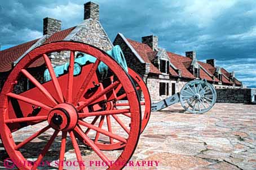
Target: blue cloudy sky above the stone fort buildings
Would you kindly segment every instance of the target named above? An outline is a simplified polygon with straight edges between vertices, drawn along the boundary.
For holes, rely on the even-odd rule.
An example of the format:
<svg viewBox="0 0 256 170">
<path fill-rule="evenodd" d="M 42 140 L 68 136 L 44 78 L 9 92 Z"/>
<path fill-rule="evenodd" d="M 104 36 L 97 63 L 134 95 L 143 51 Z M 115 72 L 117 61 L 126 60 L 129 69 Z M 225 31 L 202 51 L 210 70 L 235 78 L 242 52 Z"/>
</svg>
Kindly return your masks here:
<svg viewBox="0 0 256 170">
<path fill-rule="evenodd" d="M 63 29 L 82 22 L 85 0 L 8 0 L 0 4 L 2 50 L 42 36 L 42 19 L 63 21 Z M 158 36 L 159 46 L 184 55 L 195 50 L 199 60 L 235 71 L 256 86 L 256 1 L 95 0 L 100 21 L 113 41 L 117 33 L 140 41 Z"/>
</svg>

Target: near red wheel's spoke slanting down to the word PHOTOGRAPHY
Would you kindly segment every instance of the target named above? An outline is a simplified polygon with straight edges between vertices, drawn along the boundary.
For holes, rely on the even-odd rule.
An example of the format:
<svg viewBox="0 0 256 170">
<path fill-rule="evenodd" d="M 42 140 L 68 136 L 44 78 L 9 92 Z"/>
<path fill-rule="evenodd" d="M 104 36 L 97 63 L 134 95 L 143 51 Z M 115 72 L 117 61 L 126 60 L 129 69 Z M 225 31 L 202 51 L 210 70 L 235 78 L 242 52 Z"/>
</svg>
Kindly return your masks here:
<svg viewBox="0 0 256 170">
<path fill-rule="evenodd" d="M 83 140 L 91 147 L 91 149 L 95 151 L 95 153 L 103 160 L 103 162 L 105 162 L 110 167 L 111 164 L 109 159 L 100 151 L 99 147 L 96 146 L 94 142 L 90 140 L 90 138 L 86 136 L 80 128 L 75 127 L 74 130 L 83 138 Z"/>
</svg>

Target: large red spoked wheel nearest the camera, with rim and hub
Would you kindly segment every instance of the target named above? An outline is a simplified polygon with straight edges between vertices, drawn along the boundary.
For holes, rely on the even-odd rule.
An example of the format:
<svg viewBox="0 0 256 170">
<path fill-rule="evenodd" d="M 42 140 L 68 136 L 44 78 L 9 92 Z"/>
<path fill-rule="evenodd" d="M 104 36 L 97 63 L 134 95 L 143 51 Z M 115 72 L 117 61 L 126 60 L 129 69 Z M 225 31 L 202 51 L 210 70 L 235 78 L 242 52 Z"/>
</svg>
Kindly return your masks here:
<svg viewBox="0 0 256 170">
<path fill-rule="evenodd" d="M 36 61 L 37 59 L 39 59 L 39 57 L 41 57 L 43 55 L 45 61 L 46 61 L 46 65 L 48 66 L 48 70 L 51 74 L 52 72 L 52 66 L 50 66 L 51 64 L 47 64 L 47 62 L 49 62 L 50 60 L 48 59 L 47 55 L 45 55 L 46 53 L 51 53 L 51 52 L 55 52 L 55 51 L 71 51 L 70 52 L 70 74 L 68 74 L 68 81 L 67 81 L 67 95 L 63 95 L 63 90 L 61 90 L 60 84 L 58 83 L 58 78 L 55 77 L 55 75 L 52 75 L 51 78 L 51 82 L 52 84 L 54 84 L 53 87 L 55 87 L 55 92 L 57 93 L 57 95 L 55 97 L 52 97 L 51 93 L 48 93 L 46 89 L 43 88 L 42 85 L 37 84 L 36 81 L 33 82 L 33 76 L 30 77 L 29 73 L 25 70 L 28 68 L 28 66 L 30 64 L 32 64 L 34 61 Z M 133 84 L 131 83 L 131 80 L 129 79 L 129 77 L 127 76 L 126 72 L 121 68 L 120 65 L 117 64 L 116 61 L 114 61 L 111 57 L 109 57 L 105 52 L 99 50 L 98 48 L 92 47 L 89 44 L 85 44 L 85 43 L 78 43 L 78 42 L 67 42 L 67 41 L 63 41 L 63 42 L 54 42 L 54 43 L 50 43 L 50 44 L 45 44 L 43 46 L 37 47 L 36 49 L 34 49 L 33 51 L 29 52 L 25 57 L 23 57 L 23 59 L 21 59 L 19 61 L 19 63 L 15 66 L 15 68 L 11 71 L 10 75 L 8 76 L 3 88 L 2 88 L 2 92 L 1 92 L 1 96 L 0 96 L 0 126 L 2 127 L 2 131 L 1 131 L 1 138 L 2 138 L 2 142 L 3 145 L 5 146 L 5 149 L 7 151 L 7 153 L 9 154 L 10 158 L 12 160 L 15 160 L 17 163 L 17 167 L 20 169 L 32 169 L 32 168 L 37 168 L 37 167 L 32 167 L 29 165 L 25 165 L 25 167 L 21 166 L 23 165 L 25 158 L 24 156 L 21 154 L 21 152 L 19 151 L 19 148 L 21 147 L 21 145 L 16 145 L 14 139 L 12 138 L 11 134 L 11 129 L 9 126 L 7 126 L 7 124 L 12 124 L 12 123 L 19 123 L 19 122 L 37 122 L 37 121 L 43 121 L 43 120 L 47 120 L 47 116 L 46 115 L 37 115 L 34 117 L 26 117 L 26 118 L 14 118 L 14 119 L 9 119 L 9 99 L 10 98 L 15 98 L 17 100 L 21 100 L 21 101 L 25 101 L 28 102 L 30 104 L 33 105 L 37 105 L 40 106 L 42 109 L 44 110 L 48 110 L 51 111 L 54 106 L 58 105 L 58 108 L 61 108 L 64 110 L 69 110 L 68 111 L 68 115 L 73 115 L 74 110 L 72 110 L 72 108 L 69 108 L 68 105 L 70 104 L 75 104 L 74 106 L 76 106 L 76 103 L 78 103 L 80 101 L 80 97 L 83 96 L 83 93 L 85 92 L 86 89 L 86 83 L 89 80 L 86 80 L 83 82 L 82 86 L 83 88 L 85 88 L 83 90 L 83 88 L 81 88 L 80 92 L 77 93 L 78 97 L 73 97 L 72 99 L 72 91 L 74 90 L 73 88 L 73 52 L 74 51 L 80 51 L 83 53 L 87 53 L 91 56 L 96 57 L 96 62 L 94 63 L 94 65 L 92 66 L 93 70 L 94 68 L 96 69 L 98 67 L 97 63 L 98 61 L 102 61 L 104 62 L 104 64 L 106 64 L 109 69 L 111 69 L 113 71 L 113 73 L 116 74 L 118 80 L 120 82 L 115 82 L 113 83 L 111 86 L 107 87 L 107 90 L 111 90 L 114 87 L 117 86 L 118 83 L 122 84 L 122 87 L 125 89 L 125 91 L 129 91 L 129 93 L 127 93 L 127 98 L 129 100 L 133 100 L 133 102 L 130 102 L 129 106 L 130 106 L 130 110 L 129 112 L 131 113 L 131 124 L 130 124 L 130 133 L 129 133 L 129 137 L 126 139 L 126 145 L 125 148 L 123 149 L 123 152 L 121 153 L 121 155 L 116 159 L 116 163 L 117 164 L 113 164 L 113 165 L 109 165 L 108 169 L 121 169 L 125 164 L 118 164 L 118 162 L 128 162 L 128 160 L 131 158 L 131 155 L 133 154 L 135 147 L 138 143 L 138 139 L 139 139 L 139 134 L 140 134 L 140 119 L 141 119 L 141 113 L 140 113 L 140 105 L 139 105 L 139 100 L 138 100 L 138 96 L 136 95 L 136 91 L 133 87 Z M 73 60 L 72 60 L 73 59 Z M 91 71 L 92 72 L 92 71 Z M 87 74 L 87 78 L 90 78 L 90 74 Z M 41 102 L 37 102 L 36 100 L 33 99 L 25 99 L 23 96 L 21 95 L 16 95 L 14 93 L 12 93 L 12 90 L 14 89 L 14 82 L 19 78 L 19 76 L 22 74 L 26 75 L 28 78 L 30 78 L 30 80 L 36 84 L 37 88 L 39 89 L 39 91 L 43 92 L 44 95 L 47 97 L 48 101 L 51 104 L 48 105 L 44 105 Z M 88 79 L 89 79 L 88 78 Z M 107 93 L 108 91 L 105 90 L 102 92 L 102 94 L 104 95 L 105 93 Z M 102 95 L 101 94 L 101 95 Z M 8 95 L 8 96 L 7 96 Z M 90 104 L 90 102 L 93 102 L 97 100 L 96 96 L 92 96 L 90 99 L 88 99 L 87 101 L 83 102 L 81 105 L 77 105 L 75 110 L 82 110 L 83 108 L 85 108 L 87 105 Z M 47 101 L 47 102 L 48 102 Z M 61 105 L 59 106 L 61 103 L 65 103 L 65 106 Z M 68 109 L 67 109 L 68 108 Z M 71 111 L 70 111 L 71 110 Z M 117 110 L 117 113 L 126 113 L 127 110 L 123 109 L 123 110 Z M 62 114 L 62 113 L 61 113 Z M 67 116 L 65 115 L 65 111 L 63 112 L 63 117 Z M 82 118 L 85 113 L 77 113 L 79 118 Z M 111 113 L 112 114 L 112 113 Z M 94 114 L 92 113 L 87 113 L 86 117 L 88 117 L 89 115 L 111 115 L 109 112 L 104 111 L 104 112 L 94 112 Z M 59 115 L 58 115 L 59 116 Z M 54 115 L 51 115 L 51 117 L 54 117 Z M 67 116 L 68 117 L 68 116 Z M 59 118 L 54 117 L 54 120 L 56 120 L 58 122 Z M 74 124 L 74 120 L 70 120 L 71 123 L 69 123 L 68 125 L 72 125 Z M 81 125 L 82 120 L 78 120 L 77 118 L 77 122 L 79 125 Z M 85 133 L 83 133 L 80 129 L 80 127 L 78 126 L 78 124 L 75 127 L 67 126 L 64 128 L 61 128 L 61 131 L 63 129 L 68 128 L 67 131 L 62 131 L 62 140 L 61 140 L 61 149 L 60 149 L 60 160 L 64 159 L 64 154 L 65 153 L 65 142 L 66 142 L 66 137 L 67 134 L 69 133 L 69 136 L 72 140 L 73 146 L 74 146 L 74 150 L 76 152 L 77 155 L 77 159 L 81 160 L 81 153 L 79 150 L 79 147 L 77 145 L 77 141 L 76 138 L 74 137 L 74 132 L 76 132 L 76 134 L 80 135 L 87 144 L 90 145 L 90 147 L 95 151 L 96 154 L 98 154 L 98 156 L 103 159 L 104 162 L 107 162 L 108 158 L 106 156 L 104 156 L 103 153 L 101 153 L 101 151 L 99 150 L 99 148 L 94 144 L 94 142 L 92 142 L 92 140 L 90 140 L 89 137 L 87 137 L 85 135 Z M 82 125 L 85 125 L 84 123 L 82 123 Z M 38 135 L 40 135 L 41 133 L 47 131 L 47 129 L 49 129 L 50 127 L 47 126 L 43 129 L 41 129 L 41 131 L 34 133 L 34 135 L 30 136 L 29 138 L 27 138 L 27 141 L 23 141 L 21 142 L 22 145 L 27 144 L 28 141 L 30 141 L 31 138 L 33 137 L 37 137 Z M 99 129 L 98 129 L 99 130 Z M 101 132 L 102 130 L 100 130 Z M 98 131 L 97 131 L 98 132 Z M 55 137 L 58 135 L 59 131 L 55 130 L 54 134 L 51 136 L 50 140 L 47 142 L 47 145 L 44 147 L 44 149 L 42 150 L 41 154 L 38 156 L 37 161 L 40 161 L 43 159 L 43 156 L 46 154 L 47 150 L 49 149 L 49 147 L 51 146 L 52 142 L 54 141 Z M 103 133 L 103 132 L 102 132 Z M 104 132 L 106 133 L 106 132 Z M 107 133 L 108 135 L 110 133 Z M 111 137 L 116 137 L 113 134 L 110 134 Z M 83 169 L 83 167 L 80 167 L 81 169 Z"/>
</svg>

